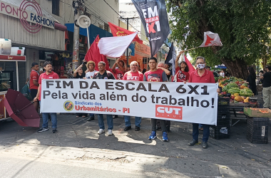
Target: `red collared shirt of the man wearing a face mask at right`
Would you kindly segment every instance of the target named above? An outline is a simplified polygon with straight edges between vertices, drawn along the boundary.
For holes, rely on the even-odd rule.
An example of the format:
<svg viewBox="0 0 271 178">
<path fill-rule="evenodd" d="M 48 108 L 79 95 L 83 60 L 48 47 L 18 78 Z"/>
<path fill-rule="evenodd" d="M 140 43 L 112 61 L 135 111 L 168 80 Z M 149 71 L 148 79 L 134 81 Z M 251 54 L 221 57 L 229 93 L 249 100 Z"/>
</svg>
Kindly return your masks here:
<svg viewBox="0 0 271 178">
<path fill-rule="evenodd" d="M 204 69 L 203 75 L 198 75 L 198 69 L 190 73 L 190 83 L 215 83 L 215 77 L 212 71 Z"/>
</svg>

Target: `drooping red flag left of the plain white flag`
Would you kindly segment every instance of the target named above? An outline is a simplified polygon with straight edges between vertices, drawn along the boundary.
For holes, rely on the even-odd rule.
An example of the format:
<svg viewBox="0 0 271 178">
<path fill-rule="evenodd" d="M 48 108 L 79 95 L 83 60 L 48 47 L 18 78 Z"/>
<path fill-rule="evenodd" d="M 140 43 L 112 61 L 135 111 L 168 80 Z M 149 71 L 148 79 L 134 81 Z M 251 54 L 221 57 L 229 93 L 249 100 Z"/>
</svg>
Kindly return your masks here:
<svg viewBox="0 0 271 178">
<path fill-rule="evenodd" d="M 93 61 L 95 65 L 95 70 L 98 70 L 98 62 L 103 61 L 106 63 L 106 70 L 109 70 L 109 64 L 107 61 L 106 56 L 103 56 L 100 53 L 100 50 L 98 48 L 98 42 L 100 41 L 99 35 L 96 36 L 95 40 L 91 44 L 91 47 L 88 49 L 88 52 L 86 53 L 85 60 L 86 61 Z"/>
</svg>

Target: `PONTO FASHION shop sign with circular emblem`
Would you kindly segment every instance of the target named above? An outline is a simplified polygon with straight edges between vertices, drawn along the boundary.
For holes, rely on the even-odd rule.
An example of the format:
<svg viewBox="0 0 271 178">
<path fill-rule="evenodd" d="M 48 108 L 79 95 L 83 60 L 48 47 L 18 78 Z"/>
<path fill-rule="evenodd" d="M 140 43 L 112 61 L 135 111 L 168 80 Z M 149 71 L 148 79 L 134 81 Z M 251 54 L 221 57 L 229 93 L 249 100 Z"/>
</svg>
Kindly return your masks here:
<svg viewBox="0 0 271 178">
<path fill-rule="evenodd" d="M 26 10 L 29 8 L 34 9 L 36 13 L 34 13 L 33 11 Z M 22 26 L 24 26 L 26 31 L 29 31 L 30 33 L 38 33 L 41 30 L 42 26 L 54 28 L 53 19 L 49 19 L 48 17 L 43 16 L 41 7 L 34 0 L 32 1 L 23 0 L 19 7 L 1 1 L 0 13 L 20 19 Z"/>
</svg>

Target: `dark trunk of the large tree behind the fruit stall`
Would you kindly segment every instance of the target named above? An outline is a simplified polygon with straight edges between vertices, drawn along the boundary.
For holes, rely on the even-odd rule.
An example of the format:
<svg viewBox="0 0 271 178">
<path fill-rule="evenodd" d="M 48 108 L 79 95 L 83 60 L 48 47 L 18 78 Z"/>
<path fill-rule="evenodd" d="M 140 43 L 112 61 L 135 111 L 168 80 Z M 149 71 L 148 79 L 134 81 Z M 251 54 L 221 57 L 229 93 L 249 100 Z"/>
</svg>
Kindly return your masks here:
<svg viewBox="0 0 271 178">
<path fill-rule="evenodd" d="M 248 71 L 245 61 L 240 58 L 235 59 L 235 61 L 229 58 L 223 58 L 220 61 L 225 64 L 232 76 L 247 80 Z"/>
</svg>

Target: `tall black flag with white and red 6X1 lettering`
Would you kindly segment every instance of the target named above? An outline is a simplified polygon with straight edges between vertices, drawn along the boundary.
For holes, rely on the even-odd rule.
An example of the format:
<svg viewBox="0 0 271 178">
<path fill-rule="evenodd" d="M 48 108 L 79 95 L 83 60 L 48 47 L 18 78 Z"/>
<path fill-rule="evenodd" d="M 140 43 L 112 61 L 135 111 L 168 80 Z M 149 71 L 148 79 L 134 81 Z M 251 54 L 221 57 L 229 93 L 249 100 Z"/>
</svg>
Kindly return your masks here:
<svg viewBox="0 0 271 178">
<path fill-rule="evenodd" d="M 145 28 L 150 42 L 151 56 L 154 56 L 163 45 L 170 27 L 165 0 L 132 0 Z"/>
</svg>

